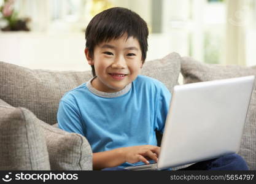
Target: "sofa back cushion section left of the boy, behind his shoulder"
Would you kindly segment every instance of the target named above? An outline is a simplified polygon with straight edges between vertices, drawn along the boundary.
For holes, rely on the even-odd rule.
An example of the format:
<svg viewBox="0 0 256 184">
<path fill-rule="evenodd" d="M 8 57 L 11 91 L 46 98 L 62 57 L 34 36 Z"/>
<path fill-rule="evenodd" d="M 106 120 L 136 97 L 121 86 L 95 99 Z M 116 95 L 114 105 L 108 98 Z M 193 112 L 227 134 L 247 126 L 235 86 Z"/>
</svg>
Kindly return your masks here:
<svg viewBox="0 0 256 184">
<path fill-rule="evenodd" d="M 56 123 L 58 104 L 66 91 L 91 78 L 88 72 L 33 70 L 0 62 L 0 98 L 25 107 L 50 125 Z"/>
</svg>

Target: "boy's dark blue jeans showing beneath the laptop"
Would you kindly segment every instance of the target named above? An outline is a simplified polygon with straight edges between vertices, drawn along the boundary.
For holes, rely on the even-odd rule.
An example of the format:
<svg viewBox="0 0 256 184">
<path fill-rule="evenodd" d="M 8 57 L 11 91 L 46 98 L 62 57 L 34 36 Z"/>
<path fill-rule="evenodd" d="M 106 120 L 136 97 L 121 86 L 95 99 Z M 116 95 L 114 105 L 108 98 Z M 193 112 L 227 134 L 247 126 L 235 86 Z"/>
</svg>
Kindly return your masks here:
<svg viewBox="0 0 256 184">
<path fill-rule="evenodd" d="M 102 171 L 122 171 L 122 166 L 109 167 Z M 201 161 L 191 166 L 179 169 L 180 171 L 215 170 L 215 171 L 245 171 L 248 170 L 246 161 L 237 154 L 220 156 L 219 158 Z"/>
</svg>

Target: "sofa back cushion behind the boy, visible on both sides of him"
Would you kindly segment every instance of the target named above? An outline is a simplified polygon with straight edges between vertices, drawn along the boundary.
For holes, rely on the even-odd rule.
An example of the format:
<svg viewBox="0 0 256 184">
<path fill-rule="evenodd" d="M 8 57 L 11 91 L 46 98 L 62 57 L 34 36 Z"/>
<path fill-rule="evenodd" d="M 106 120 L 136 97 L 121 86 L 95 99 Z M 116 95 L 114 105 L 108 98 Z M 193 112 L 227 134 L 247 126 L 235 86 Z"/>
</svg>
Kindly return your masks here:
<svg viewBox="0 0 256 184">
<path fill-rule="evenodd" d="M 37 118 L 56 123 L 58 104 L 63 94 L 91 79 L 91 71 L 33 70 L 0 61 L 0 99 L 14 107 L 25 107 Z M 163 59 L 145 62 L 142 75 L 163 82 L 169 90 L 177 83 L 180 56 L 171 53 Z"/>
</svg>

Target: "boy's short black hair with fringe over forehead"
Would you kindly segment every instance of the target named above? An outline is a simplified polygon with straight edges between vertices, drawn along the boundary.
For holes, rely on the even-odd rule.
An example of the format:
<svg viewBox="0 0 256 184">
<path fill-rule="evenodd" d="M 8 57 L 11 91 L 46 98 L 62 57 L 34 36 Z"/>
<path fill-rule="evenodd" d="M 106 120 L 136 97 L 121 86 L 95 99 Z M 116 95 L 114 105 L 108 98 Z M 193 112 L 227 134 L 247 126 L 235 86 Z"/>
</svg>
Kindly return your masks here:
<svg viewBox="0 0 256 184">
<path fill-rule="evenodd" d="M 112 39 L 118 39 L 123 34 L 127 38 L 133 36 L 138 39 L 142 52 L 142 63 L 147 56 L 147 37 L 149 29 L 147 23 L 139 15 L 129 9 L 114 7 L 104 10 L 93 17 L 85 31 L 86 45 L 91 58 L 96 45 Z M 91 66 L 91 72 L 95 76 L 95 67 Z"/>
</svg>

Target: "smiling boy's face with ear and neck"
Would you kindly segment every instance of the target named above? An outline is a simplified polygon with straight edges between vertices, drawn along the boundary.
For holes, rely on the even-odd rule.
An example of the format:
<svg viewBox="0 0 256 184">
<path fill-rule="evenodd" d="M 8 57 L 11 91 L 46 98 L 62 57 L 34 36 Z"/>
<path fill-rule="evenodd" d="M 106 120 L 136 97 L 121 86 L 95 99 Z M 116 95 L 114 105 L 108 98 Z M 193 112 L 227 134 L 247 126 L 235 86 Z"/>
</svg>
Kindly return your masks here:
<svg viewBox="0 0 256 184">
<path fill-rule="evenodd" d="M 133 82 L 142 67 L 139 42 L 126 34 L 95 47 L 93 59 L 85 49 L 88 64 L 95 66 L 96 79 L 92 85 L 103 92 L 117 92 Z"/>
</svg>

